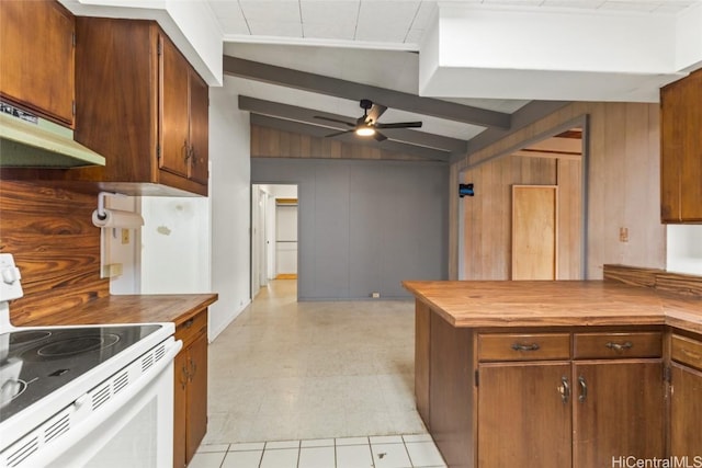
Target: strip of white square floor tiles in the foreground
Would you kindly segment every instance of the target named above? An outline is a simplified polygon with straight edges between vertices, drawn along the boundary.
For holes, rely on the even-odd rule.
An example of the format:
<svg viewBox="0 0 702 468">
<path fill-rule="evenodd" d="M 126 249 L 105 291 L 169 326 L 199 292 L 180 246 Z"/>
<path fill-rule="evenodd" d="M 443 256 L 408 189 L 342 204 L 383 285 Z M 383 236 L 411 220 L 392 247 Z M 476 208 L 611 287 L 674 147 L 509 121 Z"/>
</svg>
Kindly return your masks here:
<svg viewBox="0 0 702 468">
<path fill-rule="evenodd" d="M 196 468 L 445 468 L 429 434 L 203 445 Z"/>
</svg>

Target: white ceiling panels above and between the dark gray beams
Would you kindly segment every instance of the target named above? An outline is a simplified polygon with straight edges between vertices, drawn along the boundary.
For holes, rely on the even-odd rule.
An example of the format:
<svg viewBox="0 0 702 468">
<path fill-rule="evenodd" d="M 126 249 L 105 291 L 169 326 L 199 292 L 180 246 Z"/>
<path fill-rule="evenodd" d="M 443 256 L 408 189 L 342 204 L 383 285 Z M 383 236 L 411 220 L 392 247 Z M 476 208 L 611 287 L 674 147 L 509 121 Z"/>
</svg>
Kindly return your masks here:
<svg viewBox="0 0 702 468">
<path fill-rule="evenodd" d="M 517 9 L 632 10 L 676 14 L 702 0 L 449 0 Z M 433 0 L 208 0 L 224 54 L 418 95 L 419 46 L 438 9 Z M 233 94 L 355 118 L 358 101 L 246 78 L 225 77 Z M 442 98 L 502 113 L 529 101 Z M 381 122 L 422 121 L 421 132 L 469 140 L 486 127 L 389 109 Z M 332 130 L 330 130 L 331 133 Z M 392 133 L 388 133 L 392 138 Z"/>
</svg>

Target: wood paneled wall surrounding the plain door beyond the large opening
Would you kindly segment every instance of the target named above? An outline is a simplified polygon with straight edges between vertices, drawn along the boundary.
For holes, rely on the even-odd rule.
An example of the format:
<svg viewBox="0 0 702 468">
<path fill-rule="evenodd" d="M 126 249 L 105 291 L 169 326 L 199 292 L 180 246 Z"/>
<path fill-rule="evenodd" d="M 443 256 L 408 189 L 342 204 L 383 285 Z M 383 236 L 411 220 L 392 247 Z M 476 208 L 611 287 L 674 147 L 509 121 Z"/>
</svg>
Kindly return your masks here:
<svg viewBox="0 0 702 468">
<path fill-rule="evenodd" d="M 464 279 L 509 279 L 511 187 L 558 185 L 558 279 L 580 276 L 580 163 L 508 156 L 465 171 L 475 196 L 463 202 Z"/>
</svg>

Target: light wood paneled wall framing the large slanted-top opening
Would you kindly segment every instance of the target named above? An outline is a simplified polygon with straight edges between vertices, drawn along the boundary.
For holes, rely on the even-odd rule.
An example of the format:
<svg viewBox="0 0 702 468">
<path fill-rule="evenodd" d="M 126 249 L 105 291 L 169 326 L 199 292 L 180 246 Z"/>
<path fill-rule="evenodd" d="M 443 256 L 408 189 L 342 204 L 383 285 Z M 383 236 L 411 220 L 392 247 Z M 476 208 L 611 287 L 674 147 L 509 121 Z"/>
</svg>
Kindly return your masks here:
<svg viewBox="0 0 702 468">
<path fill-rule="evenodd" d="M 604 263 L 642 265 L 664 269 L 666 265 L 666 231 L 660 224 L 660 142 L 657 104 L 639 103 L 573 103 L 550 116 L 529 125 L 509 137 L 466 157 L 451 167 L 450 184 L 450 270 L 458 277 L 458 182 L 462 172 L 482 163 L 491 165 L 499 158 L 547 136 L 587 116 L 588 139 L 588 231 L 587 278 L 602 278 Z M 498 159 L 495 159 L 498 158 Z M 489 161 L 489 162 L 486 162 Z M 467 179 L 467 178 L 466 178 Z M 479 192 L 478 187 L 478 192 Z M 495 212 L 499 212 L 495 207 Z M 501 208 L 502 210 L 506 208 Z M 499 219 L 484 218 L 485 226 Z M 619 229 L 629 229 L 629 242 L 620 242 Z M 465 226 L 465 230 L 472 229 Z M 501 241 L 483 256 L 498 258 Z M 464 253 L 463 262 L 471 258 Z M 483 269 L 483 267 L 482 267 Z M 478 277 L 484 270 L 471 274 Z M 500 274 L 499 269 L 490 272 Z"/>
</svg>

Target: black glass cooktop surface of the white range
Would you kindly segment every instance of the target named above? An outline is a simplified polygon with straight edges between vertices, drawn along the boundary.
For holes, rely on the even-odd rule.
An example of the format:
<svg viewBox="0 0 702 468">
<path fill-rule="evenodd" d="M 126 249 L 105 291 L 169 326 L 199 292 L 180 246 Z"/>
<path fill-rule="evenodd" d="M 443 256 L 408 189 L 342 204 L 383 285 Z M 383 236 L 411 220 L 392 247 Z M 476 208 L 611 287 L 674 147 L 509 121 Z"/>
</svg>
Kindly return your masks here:
<svg viewBox="0 0 702 468">
<path fill-rule="evenodd" d="M 0 334 L 0 422 L 116 356 L 160 327 L 47 328 Z"/>
</svg>

